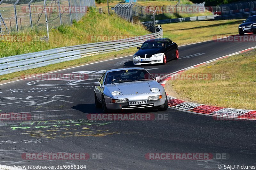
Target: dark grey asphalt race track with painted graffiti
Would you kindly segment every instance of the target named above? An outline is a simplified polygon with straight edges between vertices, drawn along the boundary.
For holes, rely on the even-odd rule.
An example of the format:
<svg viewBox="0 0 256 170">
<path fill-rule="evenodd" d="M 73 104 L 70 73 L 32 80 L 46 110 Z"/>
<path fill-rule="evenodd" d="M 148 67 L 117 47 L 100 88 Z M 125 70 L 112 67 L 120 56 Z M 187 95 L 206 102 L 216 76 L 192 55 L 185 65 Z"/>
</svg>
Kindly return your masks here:
<svg viewBox="0 0 256 170">
<path fill-rule="evenodd" d="M 150 73 L 168 74 L 253 46 L 256 43 L 207 41 L 181 46 L 179 60 L 142 67 Z M 167 114 L 168 120 L 88 120 L 88 114 L 102 113 L 94 106 L 94 79 L 104 70 L 123 65 L 133 67 L 132 56 L 54 73 L 84 73 L 89 75 L 87 80 L 21 80 L 1 85 L 0 113 L 26 113 L 34 117 L 29 121 L 0 122 L 0 164 L 86 165 L 87 169 L 218 169 L 218 165 L 223 169 L 224 165 L 256 165 L 254 121 L 217 121 L 210 116 L 172 109 L 140 110 Z M 24 153 L 50 152 L 88 153 L 90 159 L 27 160 L 22 157 Z M 226 157 L 148 160 L 147 153 L 211 153 L 214 156 L 217 153 Z"/>
</svg>

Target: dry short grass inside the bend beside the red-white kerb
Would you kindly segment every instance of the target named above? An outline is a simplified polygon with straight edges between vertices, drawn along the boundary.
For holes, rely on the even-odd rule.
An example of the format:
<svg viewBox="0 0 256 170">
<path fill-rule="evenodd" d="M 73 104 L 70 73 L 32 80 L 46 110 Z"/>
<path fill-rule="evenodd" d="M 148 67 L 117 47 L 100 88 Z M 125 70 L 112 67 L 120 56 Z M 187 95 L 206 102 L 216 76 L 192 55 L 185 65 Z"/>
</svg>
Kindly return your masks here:
<svg viewBox="0 0 256 170">
<path fill-rule="evenodd" d="M 210 74 L 215 80 L 167 81 L 166 89 L 169 89 L 169 94 L 176 92 L 178 97 L 184 100 L 256 110 L 255 53 L 256 50 L 252 50 L 183 72 L 184 74 Z M 222 78 L 218 78 L 219 75 Z"/>
</svg>

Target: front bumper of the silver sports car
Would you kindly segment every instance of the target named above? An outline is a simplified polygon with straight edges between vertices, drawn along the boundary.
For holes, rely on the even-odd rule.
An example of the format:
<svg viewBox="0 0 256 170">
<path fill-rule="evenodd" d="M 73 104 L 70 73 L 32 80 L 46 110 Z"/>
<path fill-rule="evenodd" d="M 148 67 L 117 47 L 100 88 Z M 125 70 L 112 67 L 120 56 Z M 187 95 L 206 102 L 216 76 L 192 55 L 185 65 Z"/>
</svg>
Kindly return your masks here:
<svg viewBox="0 0 256 170">
<path fill-rule="evenodd" d="M 157 100 L 148 100 L 149 96 L 159 96 L 162 95 L 162 99 Z M 148 93 L 148 94 L 135 94 L 135 95 L 123 95 L 118 96 L 118 99 L 128 99 L 128 102 L 125 103 L 112 103 L 112 99 L 116 99 L 112 97 L 111 100 L 106 101 L 106 106 L 109 110 L 119 110 L 119 109 L 143 109 L 143 108 L 151 108 L 151 107 L 159 107 L 165 102 L 165 94 L 162 93 Z M 129 105 L 129 102 L 137 102 L 147 100 L 147 104 L 140 105 Z"/>
</svg>

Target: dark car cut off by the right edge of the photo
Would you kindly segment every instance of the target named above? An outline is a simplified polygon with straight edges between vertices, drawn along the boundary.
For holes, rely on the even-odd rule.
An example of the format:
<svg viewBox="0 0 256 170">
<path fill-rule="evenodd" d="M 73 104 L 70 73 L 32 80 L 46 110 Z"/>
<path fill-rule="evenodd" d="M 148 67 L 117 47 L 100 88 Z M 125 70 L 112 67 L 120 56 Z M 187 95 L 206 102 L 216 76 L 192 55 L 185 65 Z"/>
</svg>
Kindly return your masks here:
<svg viewBox="0 0 256 170">
<path fill-rule="evenodd" d="M 238 26 L 239 35 L 244 33 L 256 33 L 256 15 L 248 17 L 243 24 Z"/>
</svg>

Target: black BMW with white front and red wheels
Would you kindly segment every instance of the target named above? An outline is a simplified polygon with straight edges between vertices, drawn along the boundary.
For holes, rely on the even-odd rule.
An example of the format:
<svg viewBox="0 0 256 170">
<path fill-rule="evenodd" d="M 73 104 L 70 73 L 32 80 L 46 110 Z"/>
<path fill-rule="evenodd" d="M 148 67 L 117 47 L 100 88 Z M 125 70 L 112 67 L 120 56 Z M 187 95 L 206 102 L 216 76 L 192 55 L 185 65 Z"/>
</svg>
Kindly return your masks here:
<svg viewBox="0 0 256 170">
<path fill-rule="evenodd" d="M 167 61 L 179 58 L 178 45 L 168 38 L 149 39 L 133 55 L 133 64 L 166 64 Z"/>
</svg>

